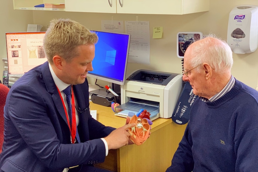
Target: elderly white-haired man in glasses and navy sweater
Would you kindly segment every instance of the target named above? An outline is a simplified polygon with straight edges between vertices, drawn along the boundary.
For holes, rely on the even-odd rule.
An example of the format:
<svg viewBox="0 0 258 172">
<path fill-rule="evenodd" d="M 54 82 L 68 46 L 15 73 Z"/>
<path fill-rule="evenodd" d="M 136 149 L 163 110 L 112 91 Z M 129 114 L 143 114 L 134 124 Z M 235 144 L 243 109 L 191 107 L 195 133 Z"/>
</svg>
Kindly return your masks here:
<svg viewBox="0 0 258 172">
<path fill-rule="evenodd" d="M 230 73 L 232 51 L 208 36 L 184 56 L 183 80 L 198 99 L 166 172 L 258 170 L 258 92 Z"/>
</svg>

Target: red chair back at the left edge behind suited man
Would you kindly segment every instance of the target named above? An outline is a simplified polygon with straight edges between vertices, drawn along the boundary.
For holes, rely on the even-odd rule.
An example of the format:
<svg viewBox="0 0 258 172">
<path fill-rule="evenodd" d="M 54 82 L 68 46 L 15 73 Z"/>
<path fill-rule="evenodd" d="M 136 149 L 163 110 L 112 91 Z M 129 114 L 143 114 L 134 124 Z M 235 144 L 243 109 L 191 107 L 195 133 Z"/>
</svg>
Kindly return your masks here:
<svg viewBox="0 0 258 172">
<path fill-rule="evenodd" d="M 0 153 L 4 142 L 4 105 L 9 88 L 4 84 L 0 84 Z"/>
</svg>

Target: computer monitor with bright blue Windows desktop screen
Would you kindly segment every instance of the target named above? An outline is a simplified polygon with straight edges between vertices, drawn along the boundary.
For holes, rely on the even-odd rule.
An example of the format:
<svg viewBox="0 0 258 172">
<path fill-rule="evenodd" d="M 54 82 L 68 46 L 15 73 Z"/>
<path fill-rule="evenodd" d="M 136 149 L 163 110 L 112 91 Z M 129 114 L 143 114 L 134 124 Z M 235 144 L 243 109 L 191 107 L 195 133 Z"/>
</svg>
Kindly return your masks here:
<svg viewBox="0 0 258 172">
<path fill-rule="evenodd" d="M 130 35 L 91 31 L 98 35 L 95 45 L 93 71 L 87 76 L 110 83 L 124 85 L 130 45 Z"/>
</svg>

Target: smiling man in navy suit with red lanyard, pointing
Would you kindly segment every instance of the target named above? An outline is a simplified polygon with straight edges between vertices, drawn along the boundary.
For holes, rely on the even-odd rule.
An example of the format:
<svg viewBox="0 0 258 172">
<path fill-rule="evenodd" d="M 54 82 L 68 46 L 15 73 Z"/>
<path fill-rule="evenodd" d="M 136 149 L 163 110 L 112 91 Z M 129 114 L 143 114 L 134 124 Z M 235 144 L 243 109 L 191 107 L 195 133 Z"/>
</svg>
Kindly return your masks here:
<svg viewBox="0 0 258 172">
<path fill-rule="evenodd" d="M 1 172 L 104 171 L 93 164 L 132 143 L 127 129 L 135 124 L 115 129 L 90 115 L 86 74 L 97 41 L 78 22 L 51 21 L 43 43 L 48 62 L 22 76 L 6 99 Z"/>
</svg>

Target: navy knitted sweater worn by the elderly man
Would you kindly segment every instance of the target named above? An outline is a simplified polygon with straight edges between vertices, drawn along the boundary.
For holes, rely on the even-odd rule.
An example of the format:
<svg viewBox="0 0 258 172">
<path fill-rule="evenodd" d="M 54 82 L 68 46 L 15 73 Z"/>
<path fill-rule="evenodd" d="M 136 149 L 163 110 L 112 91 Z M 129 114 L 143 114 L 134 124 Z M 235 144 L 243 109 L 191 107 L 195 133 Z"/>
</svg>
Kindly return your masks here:
<svg viewBox="0 0 258 172">
<path fill-rule="evenodd" d="M 236 80 L 214 102 L 196 99 L 166 172 L 257 172 L 258 92 Z"/>
</svg>

